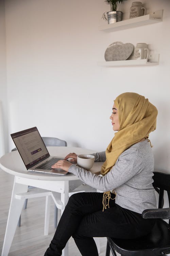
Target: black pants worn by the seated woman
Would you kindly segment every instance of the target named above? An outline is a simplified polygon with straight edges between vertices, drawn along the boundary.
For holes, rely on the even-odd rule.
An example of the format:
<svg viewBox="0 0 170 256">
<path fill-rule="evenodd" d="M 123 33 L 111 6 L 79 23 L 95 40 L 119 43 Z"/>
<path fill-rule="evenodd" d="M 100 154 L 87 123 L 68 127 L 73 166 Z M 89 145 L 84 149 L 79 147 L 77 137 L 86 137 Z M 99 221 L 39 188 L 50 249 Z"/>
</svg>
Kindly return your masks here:
<svg viewBox="0 0 170 256">
<path fill-rule="evenodd" d="M 110 208 L 102 212 L 102 198 L 103 193 L 78 193 L 69 198 L 45 256 L 62 255 L 71 236 L 82 256 L 98 256 L 93 237 L 133 239 L 152 229 L 153 219 L 143 219 L 141 214 L 115 204 L 115 200 L 110 200 Z"/>
</svg>

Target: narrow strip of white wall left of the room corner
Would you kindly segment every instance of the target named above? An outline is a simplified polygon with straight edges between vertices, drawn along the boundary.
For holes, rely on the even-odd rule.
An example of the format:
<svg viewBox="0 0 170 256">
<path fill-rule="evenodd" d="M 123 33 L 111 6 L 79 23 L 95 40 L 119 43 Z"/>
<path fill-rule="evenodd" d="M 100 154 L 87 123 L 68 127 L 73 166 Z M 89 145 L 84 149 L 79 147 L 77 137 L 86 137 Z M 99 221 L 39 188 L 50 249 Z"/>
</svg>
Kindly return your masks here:
<svg viewBox="0 0 170 256">
<path fill-rule="evenodd" d="M 5 4 L 2 0 L 0 1 L 0 157 L 8 148 L 5 44 Z"/>
</svg>

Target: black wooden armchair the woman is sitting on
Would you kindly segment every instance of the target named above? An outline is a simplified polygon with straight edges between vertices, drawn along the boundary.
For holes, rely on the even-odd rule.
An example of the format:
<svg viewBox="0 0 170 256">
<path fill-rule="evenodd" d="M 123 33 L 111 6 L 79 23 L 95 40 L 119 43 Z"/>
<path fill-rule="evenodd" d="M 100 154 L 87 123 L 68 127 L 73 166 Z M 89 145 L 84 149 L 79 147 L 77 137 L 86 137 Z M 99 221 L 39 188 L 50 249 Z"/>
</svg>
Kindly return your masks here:
<svg viewBox="0 0 170 256">
<path fill-rule="evenodd" d="M 138 239 L 115 239 L 107 237 L 106 256 L 110 251 L 124 256 L 164 256 L 170 253 L 170 208 L 164 208 L 164 190 L 168 193 L 170 206 L 170 174 L 154 172 L 153 186 L 159 193 L 159 209 L 147 209 L 142 212 L 143 218 L 155 218 L 152 231 Z M 163 219 L 169 219 L 169 224 Z M 116 251 L 116 252 L 115 252 Z"/>
</svg>

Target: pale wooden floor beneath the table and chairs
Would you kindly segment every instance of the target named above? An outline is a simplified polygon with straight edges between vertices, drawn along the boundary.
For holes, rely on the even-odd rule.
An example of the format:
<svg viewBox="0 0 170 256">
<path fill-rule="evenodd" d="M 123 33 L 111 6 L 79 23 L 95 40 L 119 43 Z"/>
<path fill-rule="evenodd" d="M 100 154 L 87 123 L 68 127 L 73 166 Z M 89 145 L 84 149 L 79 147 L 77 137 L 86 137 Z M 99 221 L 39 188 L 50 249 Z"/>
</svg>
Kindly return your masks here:
<svg viewBox="0 0 170 256">
<path fill-rule="evenodd" d="M 4 240 L 8 210 L 14 176 L 0 169 L 0 255 Z M 45 197 L 29 199 L 26 210 L 22 210 L 21 227 L 17 227 L 8 256 L 44 256 L 53 238 L 54 203 L 51 205 L 49 235 L 44 236 Z M 61 212 L 58 210 L 58 219 Z M 106 238 L 100 238 L 100 256 L 105 256 Z M 69 256 L 81 256 L 74 240 L 69 240 Z"/>
</svg>

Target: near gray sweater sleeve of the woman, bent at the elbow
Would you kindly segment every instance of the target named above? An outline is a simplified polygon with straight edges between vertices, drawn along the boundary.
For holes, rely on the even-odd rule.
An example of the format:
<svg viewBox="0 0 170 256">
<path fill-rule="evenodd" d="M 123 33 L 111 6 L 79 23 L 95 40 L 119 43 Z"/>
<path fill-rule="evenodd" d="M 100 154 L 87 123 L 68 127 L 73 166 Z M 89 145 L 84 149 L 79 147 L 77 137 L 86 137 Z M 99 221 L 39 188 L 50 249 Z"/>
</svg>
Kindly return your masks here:
<svg viewBox="0 0 170 256">
<path fill-rule="evenodd" d="M 96 155 L 97 160 L 101 159 L 98 154 Z M 103 153 L 101 155 L 103 156 Z M 140 154 L 136 151 L 128 150 L 128 152 L 124 151 L 119 156 L 112 170 L 104 176 L 91 173 L 75 165 L 71 165 L 68 171 L 78 176 L 87 185 L 101 191 L 108 191 L 130 180 L 140 170 L 141 165 L 142 157 Z"/>
</svg>

